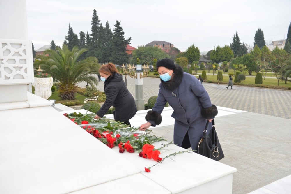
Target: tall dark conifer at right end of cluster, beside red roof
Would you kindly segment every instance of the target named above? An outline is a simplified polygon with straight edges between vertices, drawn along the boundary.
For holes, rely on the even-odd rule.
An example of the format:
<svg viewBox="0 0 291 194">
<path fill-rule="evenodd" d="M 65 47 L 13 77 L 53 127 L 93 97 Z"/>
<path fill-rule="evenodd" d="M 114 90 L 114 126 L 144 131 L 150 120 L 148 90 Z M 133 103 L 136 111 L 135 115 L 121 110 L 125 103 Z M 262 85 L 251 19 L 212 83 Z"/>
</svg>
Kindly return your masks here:
<svg viewBox="0 0 291 194">
<path fill-rule="evenodd" d="M 131 37 L 127 40 L 124 38 L 125 33 L 120 26 L 119 21 L 116 20 L 114 27 L 111 62 L 120 65 L 129 61 L 129 55 L 126 53 L 126 48 L 127 45 L 130 44 Z"/>
</svg>

